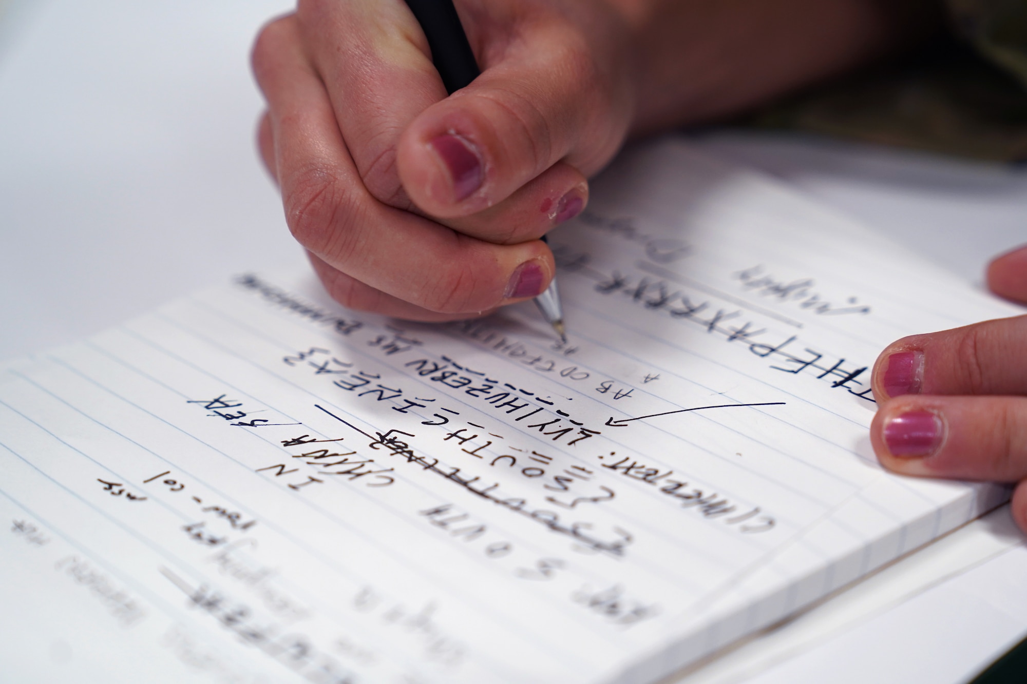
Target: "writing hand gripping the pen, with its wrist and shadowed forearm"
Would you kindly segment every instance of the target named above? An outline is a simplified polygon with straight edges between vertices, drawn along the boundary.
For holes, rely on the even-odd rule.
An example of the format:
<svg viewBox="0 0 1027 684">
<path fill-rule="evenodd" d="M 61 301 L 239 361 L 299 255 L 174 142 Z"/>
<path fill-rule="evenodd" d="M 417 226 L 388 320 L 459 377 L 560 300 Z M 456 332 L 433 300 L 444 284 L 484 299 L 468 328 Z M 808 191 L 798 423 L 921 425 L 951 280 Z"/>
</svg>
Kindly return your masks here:
<svg viewBox="0 0 1027 684">
<path fill-rule="evenodd" d="M 254 48 L 260 149 L 335 299 L 479 315 L 544 291 L 537 238 L 631 130 L 737 112 L 931 24 L 890 4 L 937 3 L 457 0 L 483 73 L 447 98 L 403 0 L 300 0 Z"/>
</svg>

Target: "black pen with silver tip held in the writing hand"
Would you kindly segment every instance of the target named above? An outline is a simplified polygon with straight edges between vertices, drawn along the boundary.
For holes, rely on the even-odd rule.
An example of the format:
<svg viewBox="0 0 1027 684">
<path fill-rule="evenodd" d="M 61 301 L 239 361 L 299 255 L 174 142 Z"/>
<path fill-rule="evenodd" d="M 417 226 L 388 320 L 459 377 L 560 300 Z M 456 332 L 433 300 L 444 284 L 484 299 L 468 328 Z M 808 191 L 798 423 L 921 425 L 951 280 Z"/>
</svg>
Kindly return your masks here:
<svg viewBox="0 0 1027 684">
<path fill-rule="evenodd" d="M 447 92 L 456 92 L 482 73 L 478 69 L 474 52 L 467 42 L 467 34 L 463 32 L 453 0 L 407 0 L 407 6 L 414 12 L 414 17 L 424 31 L 424 37 L 428 39 L 431 62 L 435 65 Z M 542 240 L 545 240 L 544 236 Z M 549 281 L 545 292 L 535 298 L 535 304 L 553 326 L 553 330 L 560 335 L 560 339 L 566 342 L 564 312 L 560 306 L 556 276 Z"/>
</svg>

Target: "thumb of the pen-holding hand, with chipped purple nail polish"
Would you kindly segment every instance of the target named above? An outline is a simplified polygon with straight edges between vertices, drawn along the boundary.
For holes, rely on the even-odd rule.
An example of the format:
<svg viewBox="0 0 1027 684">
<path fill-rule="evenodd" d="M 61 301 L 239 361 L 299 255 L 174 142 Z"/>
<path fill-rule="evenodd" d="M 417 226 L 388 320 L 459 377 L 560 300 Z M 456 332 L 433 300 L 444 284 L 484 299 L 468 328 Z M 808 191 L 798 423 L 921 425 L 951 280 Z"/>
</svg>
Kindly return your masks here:
<svg viewBox="0 0 1027 684">
<path fill-rule="evenodd" d="M 476 214 L 560 161 L 593 174 L 619 147 L 631 112 L 626 86 L 599 62 L 609 52 L 562 17 L 529 33 L 404 131 L 400 179 L 425 213 Z"/>
</svg>

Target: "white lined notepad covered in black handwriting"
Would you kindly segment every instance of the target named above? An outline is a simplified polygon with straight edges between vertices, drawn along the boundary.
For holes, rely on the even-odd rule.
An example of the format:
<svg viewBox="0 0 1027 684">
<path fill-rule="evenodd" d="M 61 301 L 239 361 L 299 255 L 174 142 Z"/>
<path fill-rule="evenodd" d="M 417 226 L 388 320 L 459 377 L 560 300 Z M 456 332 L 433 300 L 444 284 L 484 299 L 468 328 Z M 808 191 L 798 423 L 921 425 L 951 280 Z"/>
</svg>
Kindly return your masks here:
<svg viewBox="0 0 1027 684">
<path fill-rule="evenodd" d="M 8 365 L 8 673 L 649 681 L 1004 496 L 882 472 L 869 367 L 1013 307 L 675 141 L 551 243 L 567 344 L 303 272 Z"/>
</svg>

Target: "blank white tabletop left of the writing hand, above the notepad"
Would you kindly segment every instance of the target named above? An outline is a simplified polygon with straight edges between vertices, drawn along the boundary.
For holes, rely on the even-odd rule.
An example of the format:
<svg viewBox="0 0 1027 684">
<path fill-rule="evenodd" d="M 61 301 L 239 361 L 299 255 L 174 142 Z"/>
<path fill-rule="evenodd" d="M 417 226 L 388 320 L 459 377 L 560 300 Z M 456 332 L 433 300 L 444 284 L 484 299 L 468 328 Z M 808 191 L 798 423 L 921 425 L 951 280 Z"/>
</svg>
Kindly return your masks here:
<svg viewBox="0 0 1027 684">
<path fill-rule="evenodd" d="M 0 0 L 0 358 L 301 260 L 250 44 L 288 0 Z"/>
</svg>

